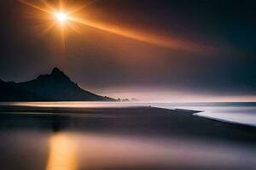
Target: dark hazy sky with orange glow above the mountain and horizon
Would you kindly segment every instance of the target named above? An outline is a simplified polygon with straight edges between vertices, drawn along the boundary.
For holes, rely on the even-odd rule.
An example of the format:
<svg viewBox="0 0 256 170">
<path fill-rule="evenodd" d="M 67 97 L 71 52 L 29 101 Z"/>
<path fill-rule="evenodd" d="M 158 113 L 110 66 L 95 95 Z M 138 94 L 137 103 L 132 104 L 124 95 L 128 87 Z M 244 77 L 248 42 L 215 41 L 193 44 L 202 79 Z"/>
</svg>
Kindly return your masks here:
<svg viewBox="0 0 256 170">
<path fill-rule="evenodd" d="M 56 66 L 111 97 L 256 100 L 254 1 L 66 0 L 65 10 L 84 7 L 67 26 L 26 3 L 47 8 L 0 2 L 3 81 Z"/>
</svg>

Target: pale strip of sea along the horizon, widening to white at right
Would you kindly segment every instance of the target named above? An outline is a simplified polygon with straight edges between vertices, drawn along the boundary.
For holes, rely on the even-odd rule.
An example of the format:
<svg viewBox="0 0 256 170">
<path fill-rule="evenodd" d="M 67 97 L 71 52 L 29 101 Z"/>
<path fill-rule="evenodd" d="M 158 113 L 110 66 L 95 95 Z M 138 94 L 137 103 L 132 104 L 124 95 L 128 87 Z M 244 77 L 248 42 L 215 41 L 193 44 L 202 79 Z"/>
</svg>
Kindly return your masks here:
<svg viewBox="0 0 256 170">
<path fill-rule="evenodd" d="M 195 114 L 224 122 L 236 122 L 256 126 L 256 103 L 254 102 L 209 102 L 209 103 L 132 103 L 132 102 L 15 102 L 0 103 L 0 105 L 21 105 L 39 107 L 134 107 L 154 106 L 165 109 L 185 109 L 202 111 Z"/>
</svg>

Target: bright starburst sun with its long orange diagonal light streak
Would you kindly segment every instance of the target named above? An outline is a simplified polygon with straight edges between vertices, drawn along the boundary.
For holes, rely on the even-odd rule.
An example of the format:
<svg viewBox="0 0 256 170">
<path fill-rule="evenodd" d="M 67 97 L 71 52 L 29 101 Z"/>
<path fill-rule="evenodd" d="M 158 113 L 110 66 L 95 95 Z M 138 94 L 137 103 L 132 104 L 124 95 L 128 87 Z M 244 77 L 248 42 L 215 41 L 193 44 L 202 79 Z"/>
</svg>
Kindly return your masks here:
<svg viewBox="0 0 256 170">
<path fill-rule="evenodd" d="M 32 8 L 36 8 L 40 11 L 43 11 L 47 14 L 51 14 L 52 18 L 55 18 L 63 27 L 64 23 L 68 21 L 73 23 L 79 23 L 84 26 L 90 26 L 100 31 L 106 31 L 108 33 L 112 33 L 114 35 L 118 35 L 121 37 L 130 38 L 139 42 L 145 42 L 148 44 L 152 44 L 161 48 L 168 48 L 171 50 L 180 50 L 180 51 L 187 51 L 187 52 L 194 52 L 194 53 L 212 53 L 216 48 L 204 46 L 202 44 L 189 42 L 187 40 L 181 38 L 170 38 L 165 36 L 153 35 L 149 33 L 144 33 L 143 31 L 132 31 L 125 28 L 117 27 L 117 26 L 110 26 L 108 24 L 103 24 L 95 21 L 84 20 L 81 17 L 76 17 L 73 14 L 81 10 L 82 8 L 88 6 L 84 5 L 80 8 L 67 8 L 63 0 L 59 0 L 59 7 L 53 8 L 49 3 L 44 2 L 46 8 L 38 7 L 32 3 L 28 3 L 25 0 L 20 0 L 21 3 L 24 3 Z M 49 8 L 49 9 L 47 9 Z M 72 25 L 72 23 L 69 23 Z M 61 39 L 62 44 L 65 42 L 65 32 L 64 28 L 61 28 Z"/>
</svg>

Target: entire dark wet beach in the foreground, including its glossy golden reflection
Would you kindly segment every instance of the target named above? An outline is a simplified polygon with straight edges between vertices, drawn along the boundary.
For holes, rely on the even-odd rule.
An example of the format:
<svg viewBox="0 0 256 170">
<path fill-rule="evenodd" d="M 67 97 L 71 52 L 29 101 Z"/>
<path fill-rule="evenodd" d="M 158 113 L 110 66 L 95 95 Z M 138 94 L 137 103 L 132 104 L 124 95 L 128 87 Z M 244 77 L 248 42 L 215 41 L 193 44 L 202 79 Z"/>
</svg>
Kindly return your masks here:
<svg viewBox="0 0 256 170">
<path fill-rule="evenodd" d="M 3 169 L 253 169 L 256 128 L 151 106 L 1 105 Z M 32 161 L 36 160 L 36 161 Z"/>
</svg>

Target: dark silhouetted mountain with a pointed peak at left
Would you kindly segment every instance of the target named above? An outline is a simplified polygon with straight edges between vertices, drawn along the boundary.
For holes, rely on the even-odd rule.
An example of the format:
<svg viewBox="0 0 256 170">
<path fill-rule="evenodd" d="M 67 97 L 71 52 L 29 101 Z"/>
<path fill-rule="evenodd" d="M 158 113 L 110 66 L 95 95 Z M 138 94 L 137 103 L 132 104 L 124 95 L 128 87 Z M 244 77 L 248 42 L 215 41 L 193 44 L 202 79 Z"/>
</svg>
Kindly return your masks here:
<svg viewBox="0 0 256 170">
<path fill-rule="evenodd" d="M 3 82 L 0 80 L 0 101 L 114 101 L 92 94 L 72 82 L 58 68 L 49 75 L 40 75 L 28 82 Z"/>
</svg>

